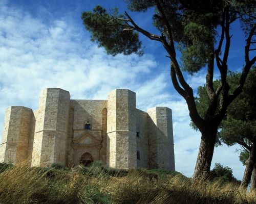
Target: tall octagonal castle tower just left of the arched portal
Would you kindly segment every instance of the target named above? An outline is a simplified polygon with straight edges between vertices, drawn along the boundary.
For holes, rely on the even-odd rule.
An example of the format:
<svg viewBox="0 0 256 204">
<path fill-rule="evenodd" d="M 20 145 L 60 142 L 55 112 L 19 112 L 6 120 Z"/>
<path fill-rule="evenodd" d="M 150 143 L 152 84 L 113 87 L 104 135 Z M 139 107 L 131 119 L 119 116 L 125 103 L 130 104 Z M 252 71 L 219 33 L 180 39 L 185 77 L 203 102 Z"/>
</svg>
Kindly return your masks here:
<svg viewBox="0 0 256 204">
<path fill-rule="evenodd" d="M 41 91 L 35 125 L 32 166 L 66 164 L 70 94 L 48 88 Z"/>
</svg>

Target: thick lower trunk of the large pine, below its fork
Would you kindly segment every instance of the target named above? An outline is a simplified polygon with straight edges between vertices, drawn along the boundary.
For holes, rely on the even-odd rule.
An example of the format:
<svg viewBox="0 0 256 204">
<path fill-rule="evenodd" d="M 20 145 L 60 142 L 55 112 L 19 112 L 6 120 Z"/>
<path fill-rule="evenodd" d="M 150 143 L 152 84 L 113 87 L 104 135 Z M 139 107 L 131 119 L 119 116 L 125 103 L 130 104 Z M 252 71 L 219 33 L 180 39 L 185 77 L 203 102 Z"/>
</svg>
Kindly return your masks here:
<svg viewBox="0 0 256 204">
<path fill-rule="evenodd" d="M 199 179 L 204 173 L 208 174 L 210 171 L 211 160 L 214 155 L 217 128 L 216 130 L 201 131 L 201 133 L 201 143 L 194 172 L 194 180 Z"/>
</svg>

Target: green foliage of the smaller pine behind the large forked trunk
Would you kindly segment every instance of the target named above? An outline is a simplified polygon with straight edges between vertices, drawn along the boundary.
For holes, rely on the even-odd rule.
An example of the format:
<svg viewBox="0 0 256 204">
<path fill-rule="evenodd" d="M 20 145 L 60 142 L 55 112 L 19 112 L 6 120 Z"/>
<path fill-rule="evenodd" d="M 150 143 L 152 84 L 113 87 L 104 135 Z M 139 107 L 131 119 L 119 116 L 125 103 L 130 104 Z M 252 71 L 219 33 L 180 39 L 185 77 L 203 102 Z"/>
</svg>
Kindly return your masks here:
<svg viewBox="0 0 256 204">
<path fill-rule="evenodd" d="M 230 86 L 229 93 L 236 88 L 241 73 L 229 72 L 227 82 Z M 236 143 L 249 144 L 256 136 L 256 68 L 252 67 L 244 85 L 243 92 L 229 105 L 227 114 L 219 126 L 217 145 L 224 142 L 231 146 Z M 214 89 L 220 81 L 214 81 Z M 209 98 L 205 86 L 198 88 L 198 97 L 195 98 L 198 112 L 204 118 L 209 106 Z M 197 130 L 197 127 L 190 123 Z"/>
</svg>

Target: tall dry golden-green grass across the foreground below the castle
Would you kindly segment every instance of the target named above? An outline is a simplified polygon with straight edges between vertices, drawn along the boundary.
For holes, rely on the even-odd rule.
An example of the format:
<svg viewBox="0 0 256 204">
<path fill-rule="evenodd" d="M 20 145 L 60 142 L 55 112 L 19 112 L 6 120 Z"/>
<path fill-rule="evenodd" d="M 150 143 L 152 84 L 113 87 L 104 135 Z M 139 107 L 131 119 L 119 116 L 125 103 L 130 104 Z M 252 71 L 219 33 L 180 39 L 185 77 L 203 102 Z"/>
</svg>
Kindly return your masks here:
<svg viewBox="0 0 256 204">
<path fill-rule="evenodd" d="M 0 172 L 0 203 L 256 203 L 256 192 L 246 193 L 237 184 L 193 183 L 167 171 L 119 171 L 99 163 L 31 168 L 23 163 Z"/>
</svg>

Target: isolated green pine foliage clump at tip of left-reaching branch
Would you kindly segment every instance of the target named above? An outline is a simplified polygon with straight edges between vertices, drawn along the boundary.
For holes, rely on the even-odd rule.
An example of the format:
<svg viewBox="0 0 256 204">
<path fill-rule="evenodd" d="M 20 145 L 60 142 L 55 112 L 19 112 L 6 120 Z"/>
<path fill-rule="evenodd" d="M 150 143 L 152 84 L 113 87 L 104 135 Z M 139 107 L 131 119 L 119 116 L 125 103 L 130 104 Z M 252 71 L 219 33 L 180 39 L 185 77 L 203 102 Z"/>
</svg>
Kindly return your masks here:
<svg viewBox="0 0 256 204">
<path fill-rule="evenodd" d="M 104 47 L 107 54 L 115 56 L 119 53 L 124 55 L 136 53 L 142 56 L 138 32 L 127 30 L 124 21 L 114 20 L 113 17 L 125 18 L 123 15 L 118 15 L 117 8 L 108 14 L 101 6 L 96 6 L 93 12 L 83 12 L 81 18 L 86 29 L 91 33 L 91 40 L 96 41 L 99 47 Z"/>
</svg>

